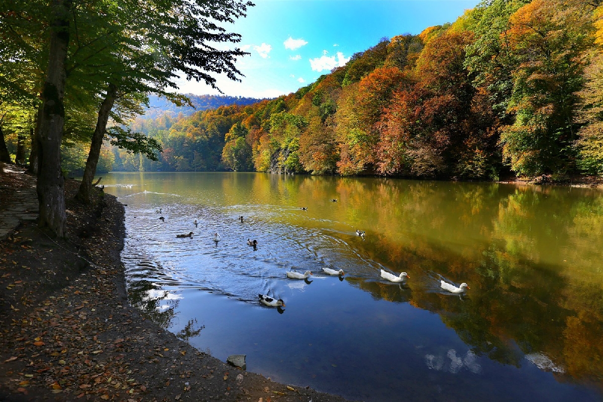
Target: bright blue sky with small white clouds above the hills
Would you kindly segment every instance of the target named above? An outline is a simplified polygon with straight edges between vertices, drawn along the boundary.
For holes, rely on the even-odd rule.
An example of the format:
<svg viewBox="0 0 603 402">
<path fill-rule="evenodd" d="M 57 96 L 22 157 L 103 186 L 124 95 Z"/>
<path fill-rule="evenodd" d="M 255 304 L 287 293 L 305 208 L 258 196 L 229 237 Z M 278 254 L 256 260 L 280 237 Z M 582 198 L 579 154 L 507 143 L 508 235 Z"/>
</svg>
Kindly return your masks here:
<svg viewBox="0 0 603 402">
<path fill-rule="evenodd" d="M 247 17 L 224 25 L 242 35 L 238 46 L 245 77 L 235 83 L 218 78 L 231 96 L 272 98 L 295 92 L 355 52 L 382 37 L 418 34 L 432 25 L 454 22 L 478 0 L 253 0 Z M 180 81 L 178 92 L 217 93 L 202 83 Z"/>
</svg>

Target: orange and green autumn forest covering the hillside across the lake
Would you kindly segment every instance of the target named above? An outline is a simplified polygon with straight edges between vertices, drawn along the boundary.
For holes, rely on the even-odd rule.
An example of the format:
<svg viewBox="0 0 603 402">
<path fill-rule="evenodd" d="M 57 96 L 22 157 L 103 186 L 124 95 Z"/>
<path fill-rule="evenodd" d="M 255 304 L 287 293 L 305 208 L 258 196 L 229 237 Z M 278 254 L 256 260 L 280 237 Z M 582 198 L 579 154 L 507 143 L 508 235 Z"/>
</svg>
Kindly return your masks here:
<svg viewBox="0 0 603 402">
<path fill-rule="evenodd" d="M 598 1 L 484 1 L 287 96 L 138 118 L 133 129 L 162 145 L 157 162 L 105 154 L 125 171 L 603 174 L 601 46 Z"/>
</svg>

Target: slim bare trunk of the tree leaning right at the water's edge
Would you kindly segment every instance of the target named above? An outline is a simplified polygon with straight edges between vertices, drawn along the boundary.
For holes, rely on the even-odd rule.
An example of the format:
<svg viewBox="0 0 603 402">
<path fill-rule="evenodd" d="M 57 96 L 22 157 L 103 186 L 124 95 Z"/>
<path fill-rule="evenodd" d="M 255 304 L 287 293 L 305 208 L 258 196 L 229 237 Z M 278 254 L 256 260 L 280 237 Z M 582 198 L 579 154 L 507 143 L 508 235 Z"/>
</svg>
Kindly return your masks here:
<svg viewBox="0 0 603 402">
<path fill-rule="evenodd" d="M 81 179 L 80 189 L 75 196 L 75 198 L 83 201 L 84 203 L 90 202 L 92 180 L 96 174 L 96 165 L 98 165 L 98 157 L 101 154 L 101 146 L 103 146 L 103 139 L 105 137 L 105 131 L 107 130 L 109 112 L 113 108 L 116 97 L 117 87 L 114 84 L 109 84 L 109 87 L 107 88 L 107 95 L 105 95 L 105 98 L 101 103 L 101 107 L 98 110 L 98 119 L 96 120 L 94 134 L 92 134 L 92 143 L 90 143 L 90 152 L 88 152 L 88 159 L 86 160 L 84 177 Z"/>
</svg>

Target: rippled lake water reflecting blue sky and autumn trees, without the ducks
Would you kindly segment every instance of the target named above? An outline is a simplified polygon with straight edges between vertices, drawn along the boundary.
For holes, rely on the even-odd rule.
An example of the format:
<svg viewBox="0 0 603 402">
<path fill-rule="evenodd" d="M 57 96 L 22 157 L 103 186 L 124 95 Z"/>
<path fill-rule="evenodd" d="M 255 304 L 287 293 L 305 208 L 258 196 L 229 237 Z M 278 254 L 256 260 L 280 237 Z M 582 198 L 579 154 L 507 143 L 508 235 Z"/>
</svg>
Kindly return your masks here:
<svg viewBox="0 0 603 402">
<path fill-rule="evenodd" d="M 130 302 L 221 360 L 247 354 L 248 371 L 350 400 L 603 399 L 601 190 L 260 173 L 103 183 L 127 204 Z M 471 289 L 447 294 L 441 277 Z"/>
</svg>

